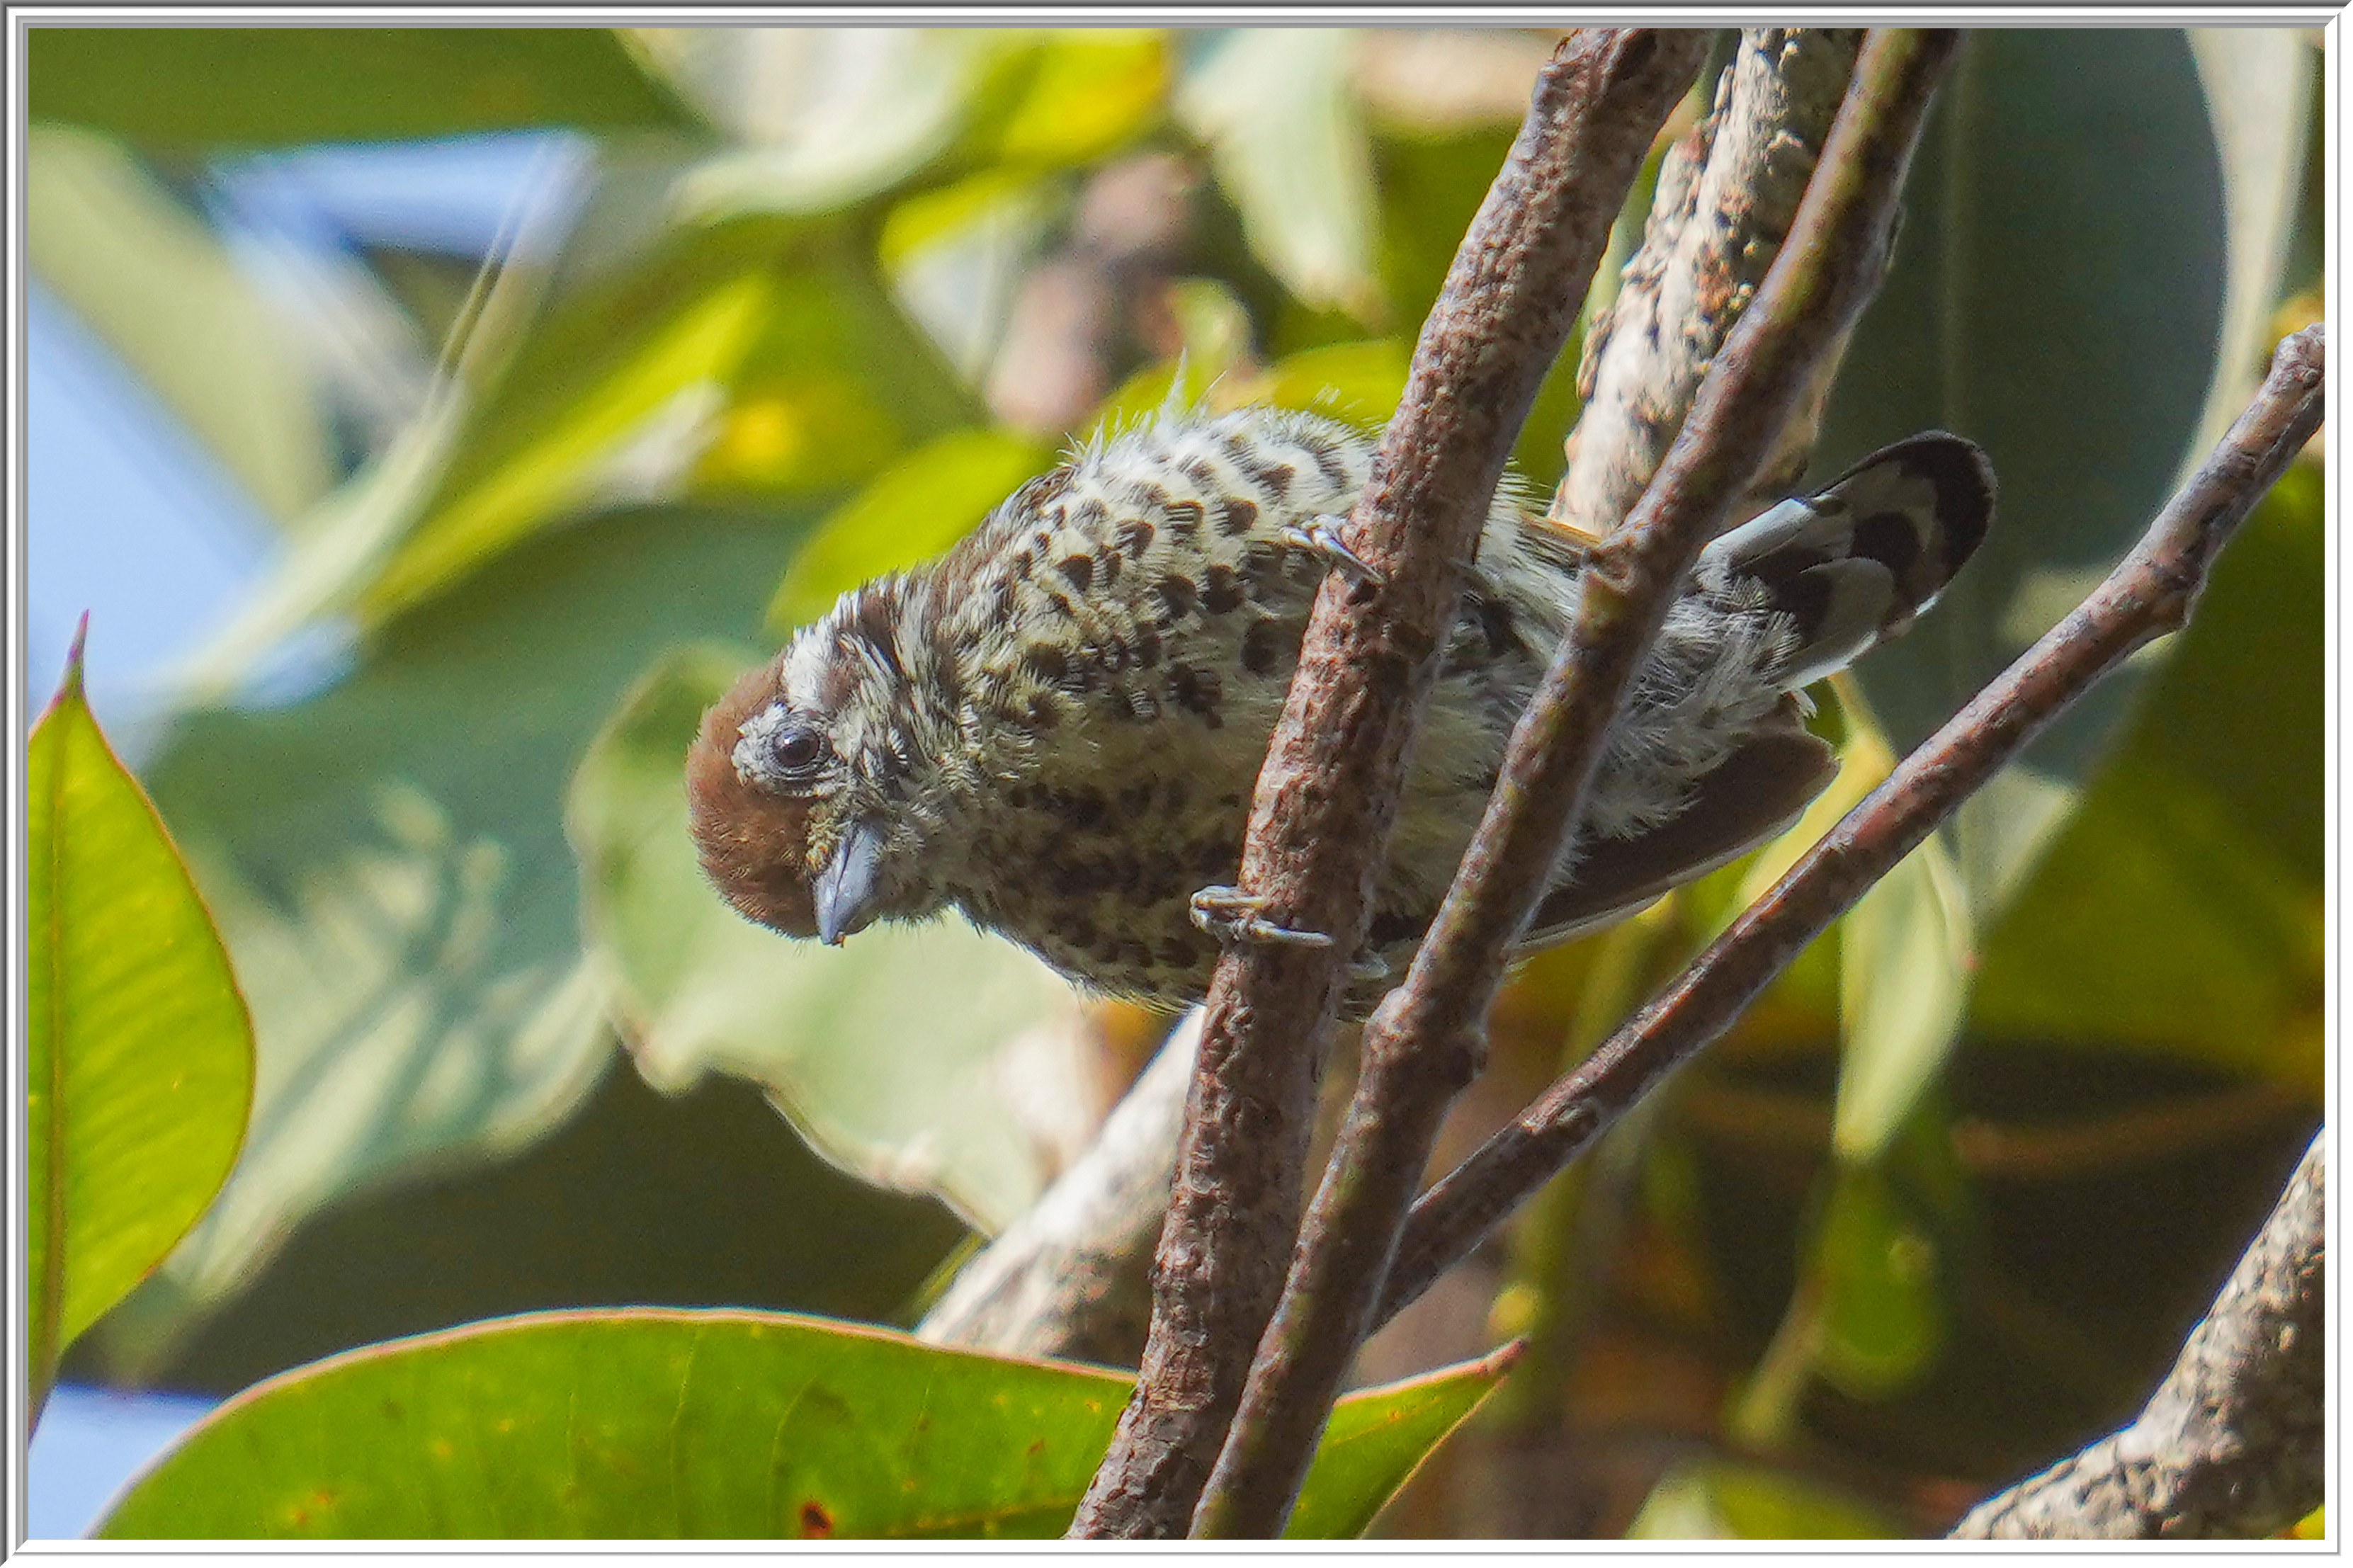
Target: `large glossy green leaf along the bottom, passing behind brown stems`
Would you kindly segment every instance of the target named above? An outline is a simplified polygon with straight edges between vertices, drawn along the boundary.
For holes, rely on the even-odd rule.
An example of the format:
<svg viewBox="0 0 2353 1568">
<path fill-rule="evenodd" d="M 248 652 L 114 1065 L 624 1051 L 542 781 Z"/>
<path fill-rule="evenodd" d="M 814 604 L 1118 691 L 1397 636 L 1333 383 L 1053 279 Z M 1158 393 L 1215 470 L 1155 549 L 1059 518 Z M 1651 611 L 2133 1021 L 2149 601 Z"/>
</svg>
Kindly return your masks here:
<svg viewBox="0 0 2353 1568">
<path fill-rule="evenodd" d="M 1372 1516 L 1492 1361 L 1355 1394 L 1301 1514 Z M 758 1311 L 541 1314 L 369 1347 L 238 1396 L 101 1535 L 1049 1537 L 1129 1380 Z"/>
</svg>

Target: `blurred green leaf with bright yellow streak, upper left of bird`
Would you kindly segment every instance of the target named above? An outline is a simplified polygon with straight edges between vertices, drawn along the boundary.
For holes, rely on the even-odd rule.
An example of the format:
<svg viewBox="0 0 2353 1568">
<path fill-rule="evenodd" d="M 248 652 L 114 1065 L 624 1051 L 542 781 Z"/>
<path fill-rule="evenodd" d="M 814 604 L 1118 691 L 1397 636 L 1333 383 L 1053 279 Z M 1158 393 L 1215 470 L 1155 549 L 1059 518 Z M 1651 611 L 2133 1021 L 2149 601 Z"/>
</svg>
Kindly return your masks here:
<svg viewBox="0 0 2353 1568">
<path fill-rule="evenodd" d="M 431 494 L 362 579 L 362 617 L 595 509 L 833 490 L 969 421 L 953 372 L 845 235 L 748 219 L 621 242 L 626 261 L 560 292 L 473 388 Z"/>
</svg>

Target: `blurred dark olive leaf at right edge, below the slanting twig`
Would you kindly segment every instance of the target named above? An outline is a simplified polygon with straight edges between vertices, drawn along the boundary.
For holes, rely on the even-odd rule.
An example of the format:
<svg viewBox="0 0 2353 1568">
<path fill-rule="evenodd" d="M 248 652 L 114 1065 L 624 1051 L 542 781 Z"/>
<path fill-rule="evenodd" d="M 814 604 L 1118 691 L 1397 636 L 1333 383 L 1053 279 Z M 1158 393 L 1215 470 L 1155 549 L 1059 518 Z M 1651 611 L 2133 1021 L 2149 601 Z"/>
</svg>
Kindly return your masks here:
<svg viewBox="0 0 2353 1568">
<path fill-rule="evenodd" d="M 2322 476 L 2224 551 L 2115 758 L 1988 935 L 1969 1024 L 2322 1074 Z"/>
</svg>

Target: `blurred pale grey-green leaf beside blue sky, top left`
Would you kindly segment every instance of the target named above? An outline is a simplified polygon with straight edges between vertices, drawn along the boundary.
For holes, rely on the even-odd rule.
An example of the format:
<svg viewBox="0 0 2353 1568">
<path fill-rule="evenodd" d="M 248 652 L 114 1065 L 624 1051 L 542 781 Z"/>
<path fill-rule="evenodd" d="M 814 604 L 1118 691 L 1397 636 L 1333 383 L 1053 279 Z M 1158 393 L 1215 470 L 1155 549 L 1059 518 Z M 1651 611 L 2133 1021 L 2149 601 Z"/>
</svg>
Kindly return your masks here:
<svg viewBox="0 0 2353 1568">
<path fill-rule="evenodd" d="M 212 231 L 129 153 L 35 125 L 26 254 L 266 513 L 289 520 L 327 490 L 327 421 L 299 346 Z"/>
</svg>

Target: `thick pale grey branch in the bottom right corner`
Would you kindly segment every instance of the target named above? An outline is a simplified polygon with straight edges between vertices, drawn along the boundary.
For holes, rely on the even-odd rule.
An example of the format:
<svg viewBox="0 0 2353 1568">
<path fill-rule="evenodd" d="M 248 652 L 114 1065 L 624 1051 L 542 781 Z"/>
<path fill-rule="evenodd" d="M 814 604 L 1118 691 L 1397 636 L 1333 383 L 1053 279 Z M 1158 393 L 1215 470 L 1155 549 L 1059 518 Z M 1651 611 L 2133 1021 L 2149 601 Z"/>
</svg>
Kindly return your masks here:
<svg viewBox="0 0 2353 1568">
<path fill-rule="evenodd" d="M 2327 1479 L 2327 1128 L 2174 1370 L 2115 1436 L 1969 1509 L 1955 1540 L 2242 1540 Z"/>
</svg>

